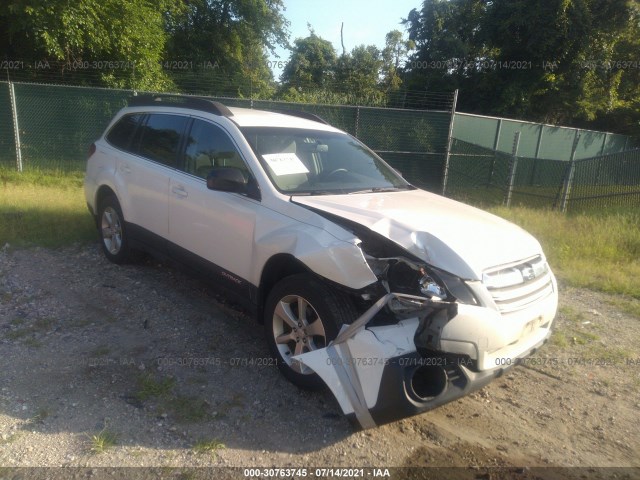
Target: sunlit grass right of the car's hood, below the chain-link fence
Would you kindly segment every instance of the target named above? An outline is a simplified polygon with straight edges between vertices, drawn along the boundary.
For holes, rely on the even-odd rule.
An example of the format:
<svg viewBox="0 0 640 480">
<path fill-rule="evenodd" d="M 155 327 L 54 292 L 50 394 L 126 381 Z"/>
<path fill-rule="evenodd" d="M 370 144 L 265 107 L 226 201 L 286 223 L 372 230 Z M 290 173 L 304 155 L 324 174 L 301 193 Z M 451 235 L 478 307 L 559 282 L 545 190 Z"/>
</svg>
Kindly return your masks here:
<svg viewBox="0 0 640 480">
<path fill-rule="evenodd" d="M 523 207 L 491 211 L 532 233 L 551 268 L 569 285 L 640 299 L 640 211 L 569 215 Z"/>
</svg>

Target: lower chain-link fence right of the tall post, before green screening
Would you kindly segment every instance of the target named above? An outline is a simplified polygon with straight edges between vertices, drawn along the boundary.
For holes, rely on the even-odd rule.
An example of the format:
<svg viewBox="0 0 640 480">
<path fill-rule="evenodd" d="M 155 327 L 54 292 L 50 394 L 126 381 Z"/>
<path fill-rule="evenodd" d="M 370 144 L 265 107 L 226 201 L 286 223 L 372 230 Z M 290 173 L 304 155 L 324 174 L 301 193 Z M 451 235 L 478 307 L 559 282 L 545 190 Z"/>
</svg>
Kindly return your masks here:
<svg viewBox="0 0 640 480">
<path fill-rule="evenodd" d="M 640 207 L 640 149 L 563 161 L 518 156 L 517 146 L 508 154 L 453 139 L 446 195 L 480 206 Z"/>
</svg>

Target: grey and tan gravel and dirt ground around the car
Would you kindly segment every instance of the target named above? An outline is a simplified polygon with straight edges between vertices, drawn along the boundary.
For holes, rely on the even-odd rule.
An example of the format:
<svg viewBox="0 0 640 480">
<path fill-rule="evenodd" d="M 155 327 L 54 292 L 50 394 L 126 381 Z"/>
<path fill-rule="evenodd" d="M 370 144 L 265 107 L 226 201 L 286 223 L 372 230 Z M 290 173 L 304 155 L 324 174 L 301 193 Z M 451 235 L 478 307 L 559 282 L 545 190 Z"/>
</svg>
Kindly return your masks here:
<svg viewBox="0 0 640 480">
<path fill-rule="evenodd" d="M 494 479 L 628 467 L 616 474 L 640 478 L 640 319 L 618 303 L 563 288 L 552 342 L 526 365 L 432 412 L 354 432 L 330 393 L 289 384 L 262 328 L 200 280 L 153 260 L 112 265 L 97 244 L 5 248 L 0 479 L 37 473 L 16 467 L 82 467 L 63 471 L 83 478 L 176 468 L 185 479 L 199 467 Z"/>
</svg>

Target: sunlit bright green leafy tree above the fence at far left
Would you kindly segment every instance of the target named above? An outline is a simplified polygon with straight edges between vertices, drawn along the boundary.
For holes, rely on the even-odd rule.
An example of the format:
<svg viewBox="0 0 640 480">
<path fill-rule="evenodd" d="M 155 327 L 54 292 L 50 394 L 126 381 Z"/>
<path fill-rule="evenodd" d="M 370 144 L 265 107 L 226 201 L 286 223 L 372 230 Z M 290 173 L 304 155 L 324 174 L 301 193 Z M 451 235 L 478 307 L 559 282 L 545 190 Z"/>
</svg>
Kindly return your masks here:
<svg viewBox="0 0 640 480">
<path fill-rule="evenodd" d="M 117 62 L 115 68 L 92 70 L 96 75 L 89 81 L 166 88 L 171 82 L 160 64 L 167 39 L 164 14 L 179 9 L 178 0 L 10 0 L 0 7 L 0 54 L 54 59 L 63 69 Z"/>
</svg>

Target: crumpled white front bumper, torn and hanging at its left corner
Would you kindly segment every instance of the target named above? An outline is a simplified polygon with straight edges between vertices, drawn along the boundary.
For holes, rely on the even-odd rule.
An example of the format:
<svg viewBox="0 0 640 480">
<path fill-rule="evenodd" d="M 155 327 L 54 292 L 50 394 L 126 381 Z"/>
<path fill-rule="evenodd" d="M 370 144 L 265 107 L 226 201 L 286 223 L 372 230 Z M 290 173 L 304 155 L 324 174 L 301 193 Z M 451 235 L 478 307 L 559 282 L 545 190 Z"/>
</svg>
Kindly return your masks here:
<svg viewBox="0 0 640 480">
<path fill-rule="evenodd" d="M 497 345 L 485 339 L 487 329 L 478 336 L 479 324 L 493 324 L 487 325 L 485 316 L 464 308 L 440 325 L 423 315 L 422 323 L 415 317 L 394 325 L 366 327 L 394 296 L 386 295 L 354 323 L 345 325 L 328 347 L 294 357 L 323 379 L 343 413 L 365 429 L 426 412 L 503 375 L 548 340 L 557 307 L 556 294 L 532 310 L 517 341 L 504 337 L 511 343 Z M 497 312 L 495 316 L 508 320 Z M 430 343 L 425 349 L 418 342 L 417 348 L 416 332 L 425 330 L 425 322 L 433 330 L 428 332 Z M 447 331 L 449 324 L 455 329 Z M 451 332 L 457 337 L 447 340 Z M 484 350 L 489 346 L 491 351 Z"/>
</svg>

